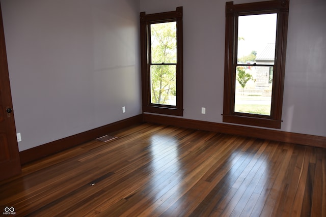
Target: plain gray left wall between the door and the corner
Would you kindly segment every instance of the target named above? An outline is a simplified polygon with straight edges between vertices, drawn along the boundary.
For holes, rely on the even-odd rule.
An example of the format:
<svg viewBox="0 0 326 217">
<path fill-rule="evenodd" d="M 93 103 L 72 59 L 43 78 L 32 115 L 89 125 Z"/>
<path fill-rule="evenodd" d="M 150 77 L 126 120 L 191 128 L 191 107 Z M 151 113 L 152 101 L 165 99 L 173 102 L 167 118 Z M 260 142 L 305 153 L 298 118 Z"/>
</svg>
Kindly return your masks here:
<svg viewBox="0 0 326 217">
<path fill-rule="evenodd" d="M 141 114 L 139 1 L 1 5 L 20 151 Z"/>
</svg>

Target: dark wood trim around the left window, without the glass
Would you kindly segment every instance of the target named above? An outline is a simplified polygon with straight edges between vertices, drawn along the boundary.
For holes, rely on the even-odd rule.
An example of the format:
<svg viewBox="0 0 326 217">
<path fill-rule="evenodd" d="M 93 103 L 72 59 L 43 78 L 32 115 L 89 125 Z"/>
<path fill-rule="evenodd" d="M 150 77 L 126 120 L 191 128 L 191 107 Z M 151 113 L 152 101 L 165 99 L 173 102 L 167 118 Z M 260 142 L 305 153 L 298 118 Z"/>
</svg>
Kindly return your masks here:
<svg viewBox="0 0 326 217">
<path fill-rule="evenodd" d="M 176 106 L 152 104 L 150 99 L 150 65 L 148 27 L 152 23 L 176 21 L 177 64 L 176 64 Z M 183 55 L 182 55 L 182 7 L 176 11 L 146 14 L 140 13 L 141 26 L 141 72 L 143 112 L 183 116 Z"/>
</svg>

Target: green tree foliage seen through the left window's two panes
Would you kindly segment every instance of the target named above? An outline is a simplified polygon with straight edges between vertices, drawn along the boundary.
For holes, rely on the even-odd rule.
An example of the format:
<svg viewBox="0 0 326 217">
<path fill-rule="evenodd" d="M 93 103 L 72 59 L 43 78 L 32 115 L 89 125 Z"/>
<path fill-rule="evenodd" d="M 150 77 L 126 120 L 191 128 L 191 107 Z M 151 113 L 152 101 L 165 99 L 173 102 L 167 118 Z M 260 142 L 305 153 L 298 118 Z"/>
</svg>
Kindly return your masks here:
<svg viewBox="0 0 326 217">
<path fill-rule="evenodd" d="M 168 102 L 176 95 L 176 22 L 151 25 L 151 102 L 155 104 L 172 104 Z M 172 64 L 172 65 L 169 65 Z"/>
</svg>

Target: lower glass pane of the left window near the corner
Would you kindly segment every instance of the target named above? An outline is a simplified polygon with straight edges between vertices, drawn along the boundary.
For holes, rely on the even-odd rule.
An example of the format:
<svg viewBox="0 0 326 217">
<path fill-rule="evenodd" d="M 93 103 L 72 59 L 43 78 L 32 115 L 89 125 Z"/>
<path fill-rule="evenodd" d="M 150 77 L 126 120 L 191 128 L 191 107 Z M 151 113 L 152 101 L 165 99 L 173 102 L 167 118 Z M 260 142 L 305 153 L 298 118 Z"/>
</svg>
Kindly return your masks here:
<svg viewBox="0 0 326 217">
<path fill-rule="evenodd" d="M 176 66 L 152 65 L 151 70 L 151 103 L 172 105 L 176 103 Z"/>
</svg>

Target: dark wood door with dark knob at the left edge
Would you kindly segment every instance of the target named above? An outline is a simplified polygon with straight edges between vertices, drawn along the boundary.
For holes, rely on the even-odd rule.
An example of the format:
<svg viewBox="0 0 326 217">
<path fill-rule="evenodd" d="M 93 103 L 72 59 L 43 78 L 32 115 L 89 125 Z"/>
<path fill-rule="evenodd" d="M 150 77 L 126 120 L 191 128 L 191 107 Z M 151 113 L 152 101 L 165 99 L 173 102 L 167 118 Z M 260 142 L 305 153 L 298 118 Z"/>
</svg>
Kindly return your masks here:
<svg viewBox="0 0 326 217">
<path fill-rule="evenodd" d="M 0 5 L 0 180 L 21 172 Z"/>
</svg>

